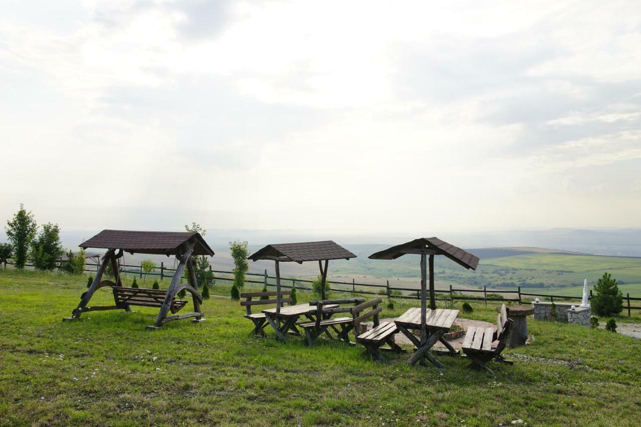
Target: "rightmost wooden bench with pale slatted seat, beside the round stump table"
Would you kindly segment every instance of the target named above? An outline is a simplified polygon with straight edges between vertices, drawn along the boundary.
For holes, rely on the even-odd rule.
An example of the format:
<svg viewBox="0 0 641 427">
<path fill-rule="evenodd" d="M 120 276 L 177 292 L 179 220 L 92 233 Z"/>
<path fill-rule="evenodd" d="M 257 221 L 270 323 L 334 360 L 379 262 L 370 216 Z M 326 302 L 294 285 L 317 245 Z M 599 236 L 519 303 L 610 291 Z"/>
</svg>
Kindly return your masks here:
<svg viewBox="0 0 641 427">
<path fill-rule="evenodd" d="M 494 328 L 481 328 L 471 326 L 465 339 L 463 339 L 463 353 L 472 359 L 469 367 L 474 369 L 485 369 L 494 374 L 492 369 L 487 367 L 486 363 L 494 359 L 497 362 L 504 362 L 512 365 L 512 360 L 505 360 L 501 356 L 501 351 L 506 346 L 508 336 L 512 330 L 512 320 L 508 318 L 508 308 L 503 304 L 496 321 L 496 330 Z"/>
</svg>

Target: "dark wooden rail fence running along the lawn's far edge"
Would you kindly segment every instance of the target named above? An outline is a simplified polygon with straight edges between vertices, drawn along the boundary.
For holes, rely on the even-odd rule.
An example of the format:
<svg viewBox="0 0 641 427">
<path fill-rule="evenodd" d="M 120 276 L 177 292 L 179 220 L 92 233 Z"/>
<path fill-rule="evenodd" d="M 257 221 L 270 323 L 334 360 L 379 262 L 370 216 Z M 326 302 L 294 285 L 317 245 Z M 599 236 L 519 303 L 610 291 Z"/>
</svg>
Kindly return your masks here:
<svg viewBox="0 0 641 427">
<path fill-rule="evenodd" d="M 5 262 L 4 267 L 6 267 L 7 264 L 13 264 L 12 262 Z M 56 264 L 58 264 L 58 269 L 60 270 L 62 261 L 61 260 L 56 260 Z M 26 264 L 27 267 L 33 267 L 31 264 Z M 98 270 L 98 265 L 93 264 L 93 263 L 85 263 L 85 267 L 91 267 L 89 269 L 85 268 L 85 271 L 87 272 L 95 272 Z M 131 264 L 120 264 L 119 263 L 119 271 L 126 273 L 126 274 L 135 274 L 140 276 L 142 279 L 142 276 L 145 274 L 149 274 L 149 276 L 160 276 L 160 279 L 162 280 L 165 277 L 171 277 L 173 275 L 173 272 L 176 271 L 176 269 L 172 267 L 165 267 L 165 263 L 161 262 L 160 267 L 154 267 L 154 269 L 151 272 L 146 273 L 142 269 L 142 265 L 131 265 Z M 225 277 L 225 276 L 217 276 L 216 273 L 218 274 L 230 274 L 233 275 L 233 271 L 225 271 L 225 270 L 213 270 L 212 267 L 210 266 L 210 271 L 213 273 L 213 278 L 215 280 L 223 280 L 223 281 L 233 281 L 234 279 L 231 277 Z M 247 272 L 246 276 L 250 277 L 261 277 L 262 280 L 251 280 L 246 278 L 245 282 L 246 283 L 256 283 L 259 285 L 265 285 L 267 287 L 276 287 L 276 284 L 274 283 L 269 283 L 269 280 L 276 280 L 276 276 L 269 276 L 267 274 L 267 270 L 265 270 L 262 273 L 259 272 Z M 307 280 L 307 279 L 298 279 L 298 278 L 291 278 L 291 277 L 281 277 L 281 281 L 288 282 L 290 281 L 292 284 L 288 285 L 287 283 L 281 283 L 281 287 L 285 289 L 291 289 L 296 285 L 296 289 L 300 290 L 313 290 L 312 287 L 304 287 L 298 285 L 298 283 L 313 283 L 313 280 Z M 408 287 L 394 287 L 390 286 L 390 281 L 387 280 L 386 285 L 380 285 L 378 283 L 357 283 L 356 280 L 350 281 L 338 281 L 338 280 L 328 280 L 328 283 L 331 283 L 332 285 L 344 285 L 347 286 L 347 288 L 335 288 L 335 290 L 340 291 L 340 292 L 351 292 L 351 294 L 358 294 L 358 295 L 385 295 L 389 298 L 401 298 L 401 299 L 420 299 L 419 295 L 419 289 L 413 289 L 413 288 L 408 288 Z M 351 289 L 349 289 L 351 287 Z M 374 290 L 363 290 L 363 289 L 357 289 L 357 287 L 360 288 L 374 288 L 374 289 L 379 289 L 378 292 Z M 385 292 L 381 292 L 381 290 L 385 290 Z M 410 295 L 402 294 L 401 292 L 411 292 Z M 517 303 L 522 303 L 522 297 L 544 297 L 544 298 L 549 298 L 551 302 L 554 302 L 554 299 L 557 300 L 572 300 L 576 299 L 578 301 L 581 301 L 582 297 L 579 296 L 567 296 L 567 295 L 552 295 L 552 294 L 535 294 L 531 292 L 522 292 L 521 287 L 517 287 L 517 290 L 503 290 L 503 289 L 487 289 L 487 287 L 483 287 L 483 289 L 456 289 L 450 285 L 449 290 L 447 289 L 435 289 L 434 292 L 436 294 L 448 294 L 446 297 L 437 297 L 436 299 L 440 301 L 454 301 L 454 300 L 467 300 L 467 301 L 484 301 L 485 304 L 487 305 L 487 301 L 513 301 Z M 469 294 L 478 294 L 478 293 L 483 293 L 483 296 L 475 297 L 471 296 Z M 501 297 L 496 297 L 494 296 L 495 294 L 501 294 Z M 508 296 L 512 297 L 506 297 L 504 296 L 505 294 L 508 294 Z M 510 295 L 511 294 L 511 295 Z M 490 295 L 490 296 L 488 296 Z M 592 290 L 590 290 L 590 295 L 588 296 L 588 299 L 592 299 Z M 624 310 L 628 310 L 628 316 L 631 315 L 631 310 L 641 310 L 641 306 L 633 306 L 631 305 L 630 301 L 641 301 L 641 297 L 631 297 L 630 294 L 626 294 L 623 297 L 624 301 Z"/>
</svg>

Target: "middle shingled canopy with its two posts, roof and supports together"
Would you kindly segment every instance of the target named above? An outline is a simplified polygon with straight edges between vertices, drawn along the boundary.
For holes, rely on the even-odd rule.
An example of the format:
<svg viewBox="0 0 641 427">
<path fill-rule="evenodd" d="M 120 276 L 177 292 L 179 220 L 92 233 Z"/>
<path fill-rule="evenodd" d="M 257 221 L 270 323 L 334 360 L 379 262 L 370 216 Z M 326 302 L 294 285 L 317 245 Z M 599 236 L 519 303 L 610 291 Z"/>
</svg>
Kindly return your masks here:
<svg viewBox="0 0 641 427">
<path fill-rule="evenodd" d="M 344 247 L 339 246 L 332 240 L 324 240 L 322 242 L 271 244 L 254 252 L 247 259 L 252 261 L 272 260 L 275 262 L 277 292 L 276 312 L 278 313 L 281 305 L 279 263 L 297 262 L 298 264 L 303 264 L 305 261 L 318 261 L 320 268 L 320 292 L 322 292 L 320 298 L 327 299 L 325 281 L 327 279 L 329 260 L 349 260 L 349 258 L 356 258 L 356 255 Z"/>
</svg>

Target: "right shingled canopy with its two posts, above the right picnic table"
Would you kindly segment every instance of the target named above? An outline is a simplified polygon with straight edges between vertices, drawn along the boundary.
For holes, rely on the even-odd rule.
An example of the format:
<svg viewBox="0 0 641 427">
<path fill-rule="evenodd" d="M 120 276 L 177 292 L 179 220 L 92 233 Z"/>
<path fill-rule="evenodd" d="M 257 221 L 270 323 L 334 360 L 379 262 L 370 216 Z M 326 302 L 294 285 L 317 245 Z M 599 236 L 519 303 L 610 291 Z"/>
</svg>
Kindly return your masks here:
<svg viewBox="0 0 641 427">
<path fill-rule="evenodd" d="M 434 296 L 434 256 L 444 255 L 447 258 L 462 265 L 466 269 L 476 270 L 479 264 L 478 256 L 472 255 L 469 252 L 463 251 L 460 247 L 444 242 L 437 237 L 422 237 L 420 239 L 412 240 L 411 242 L 403 243 L 397 246 L 389 247 L 383 251 L 373 253 L 369 256 L 372 260 L 395 260 L 399 256 L 414 254 L 420 255 L 420 330 L 421 340 L 424 341 L 426 331 L 426 314 L 427 314 L 427 297 L 426 297 L 426 281 L 427 281 L 427 267 L 429 259 L 429 309 L 435 310 L 437 308 L 436 298 Z M 429 256 L 429 258 L 428 258 Z"/>
</svg>

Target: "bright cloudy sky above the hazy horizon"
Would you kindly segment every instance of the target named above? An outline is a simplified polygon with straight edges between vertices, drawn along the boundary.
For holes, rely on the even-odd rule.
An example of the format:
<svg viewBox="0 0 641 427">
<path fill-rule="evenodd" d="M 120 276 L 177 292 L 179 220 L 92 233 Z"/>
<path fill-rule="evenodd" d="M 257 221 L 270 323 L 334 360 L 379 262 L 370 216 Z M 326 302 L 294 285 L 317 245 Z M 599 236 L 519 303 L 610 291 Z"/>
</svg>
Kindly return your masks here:
<svg viewBox="0 0 641 427">
<path fill-rule="evenodd" d="M 0 96 L 2 222 L 641 226 L 635 0 L 4 0 Z"/>
</svg>

